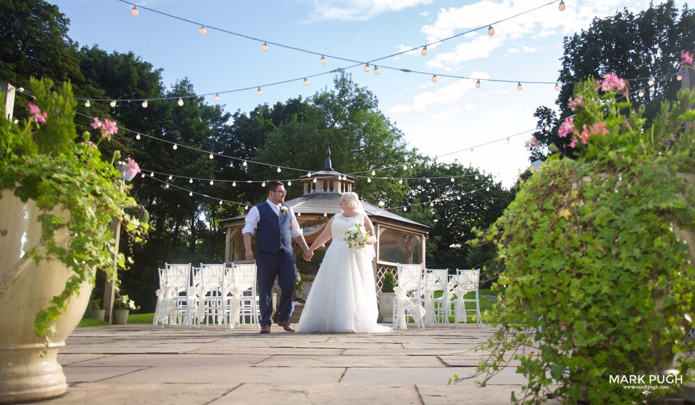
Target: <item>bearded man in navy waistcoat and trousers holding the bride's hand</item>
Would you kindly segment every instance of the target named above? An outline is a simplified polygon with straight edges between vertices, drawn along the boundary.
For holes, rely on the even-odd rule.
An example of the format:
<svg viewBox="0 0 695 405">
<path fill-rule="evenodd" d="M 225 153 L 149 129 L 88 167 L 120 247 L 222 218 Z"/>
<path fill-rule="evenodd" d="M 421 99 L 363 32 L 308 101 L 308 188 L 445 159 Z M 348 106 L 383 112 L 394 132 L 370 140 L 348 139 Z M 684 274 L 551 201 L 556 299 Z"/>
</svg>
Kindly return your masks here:
<svg viewBox="0 0 695 405">
<path fill-rule="evenodd" d="M 297 265 L 292 250 L 292 239 L 302 247 L 304 256 L 313 256 L 306 245 L 302 229 L 297 223 L 292 208 L 284 203 L 285 186 L 279 181 L 265 184 L 268 199 L 252 207 L 246 215 L 243 229 L 246 260 L 254 260 L 251 238 L 256 234 L 256 278 L 259 283 L 261 304 L 261 333 L 270 333 L 272 313 L 272 285 L 277 277 L 281 288 L 277 324 L 288 332 L 294 332 L 290 324 L 292 298 L 297 281 Z"/>
</svg>

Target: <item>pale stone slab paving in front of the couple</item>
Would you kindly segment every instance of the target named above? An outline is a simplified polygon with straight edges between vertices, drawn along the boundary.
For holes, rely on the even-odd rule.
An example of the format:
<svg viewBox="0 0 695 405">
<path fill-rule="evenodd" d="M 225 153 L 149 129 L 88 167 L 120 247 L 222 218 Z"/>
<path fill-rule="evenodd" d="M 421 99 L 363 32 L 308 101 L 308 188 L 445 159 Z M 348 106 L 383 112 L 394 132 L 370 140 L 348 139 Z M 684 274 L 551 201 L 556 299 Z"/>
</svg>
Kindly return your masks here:
<svg viewBox="0 0 695 405">
<path fill-rule="evenodd" d="M 79 328 L 58 361 L 66 395 L 39 404 L 509 404 L 523 378 L 506 367 L 468 379 L 488 326 L 382 334 L 288 333 L 273 326 Z M 555 402 L 550 402 L 555 404 Z"/>
</svg>

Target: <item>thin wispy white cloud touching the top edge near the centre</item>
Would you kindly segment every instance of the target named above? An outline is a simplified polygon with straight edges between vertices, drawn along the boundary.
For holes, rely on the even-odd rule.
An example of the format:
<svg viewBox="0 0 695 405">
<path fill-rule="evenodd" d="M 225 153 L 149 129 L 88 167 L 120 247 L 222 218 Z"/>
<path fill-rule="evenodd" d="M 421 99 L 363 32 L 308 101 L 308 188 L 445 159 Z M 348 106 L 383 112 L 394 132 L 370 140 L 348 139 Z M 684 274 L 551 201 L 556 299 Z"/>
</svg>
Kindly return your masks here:
<svg viewBox="0 0 695 405">
<path fill-rule="evenodd" d="M 366 21 L 382 13 L 426 5 L 432 0 L 314 0 L 311 21 Z"/>
</svg>

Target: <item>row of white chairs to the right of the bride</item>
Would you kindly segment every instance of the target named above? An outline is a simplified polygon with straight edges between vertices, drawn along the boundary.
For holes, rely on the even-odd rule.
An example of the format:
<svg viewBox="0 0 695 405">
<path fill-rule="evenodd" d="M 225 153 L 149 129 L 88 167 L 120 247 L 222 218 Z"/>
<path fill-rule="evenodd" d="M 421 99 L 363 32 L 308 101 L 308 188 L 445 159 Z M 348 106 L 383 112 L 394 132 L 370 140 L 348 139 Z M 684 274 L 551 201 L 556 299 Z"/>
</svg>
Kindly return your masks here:
<svg viewBox="0 0 695 405">
<path fill-rule="evenodd" d="M 453 317 L 456 327 L 460 322 L 468 323 L 468 313 L 475 314 L 478 326 L 480 319 L 480 270 L 427 269 L 423 265 L 398 264 L 396 266 L 398 286 L 394 288 L 393 328 L 406 329 L 408 320 L 425 328 L 425 324 L 448 325 Z M 475 298 L 466 298 L 475 292 Z M 473 306 L 466 307 L 466 303 Z"/>
</svg>

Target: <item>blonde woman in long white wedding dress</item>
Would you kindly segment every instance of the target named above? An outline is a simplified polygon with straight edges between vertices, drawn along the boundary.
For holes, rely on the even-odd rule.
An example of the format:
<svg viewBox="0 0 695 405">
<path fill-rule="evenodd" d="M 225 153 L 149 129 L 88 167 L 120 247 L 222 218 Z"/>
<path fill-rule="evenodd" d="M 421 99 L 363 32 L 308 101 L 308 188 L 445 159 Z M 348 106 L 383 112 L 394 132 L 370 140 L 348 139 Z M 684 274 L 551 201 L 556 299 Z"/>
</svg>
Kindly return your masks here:
<svg viewBox="0 0 695 405">
<path fill-rule="evenodd" d="M 377 238 L 374 226 L 364 212 L 357 193 L 341 197 L 343 213 L 334 215 L 324 231 L 304 256 L 333 238 L 323 258 L 316 279 L 306 297 L 300 317 L 299 332 L 388 332 L 391 328 L 377 324 L 377 293 L 372 261 Z M 345 231 L 363 224 L 369 233 L 365 247 L 348 247 Z"/>
</svg>

